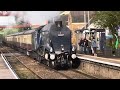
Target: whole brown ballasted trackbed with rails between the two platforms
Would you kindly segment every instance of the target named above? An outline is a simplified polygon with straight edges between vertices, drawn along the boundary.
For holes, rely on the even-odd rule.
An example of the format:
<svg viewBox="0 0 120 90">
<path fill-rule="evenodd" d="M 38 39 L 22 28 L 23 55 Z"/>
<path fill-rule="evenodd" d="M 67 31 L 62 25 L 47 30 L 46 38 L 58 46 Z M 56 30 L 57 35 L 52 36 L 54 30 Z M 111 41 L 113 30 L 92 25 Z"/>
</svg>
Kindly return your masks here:
<svg viewBox="0 0 120 90">
<path fill-rule="evenodd" d="M 51 69 L 28 56 L 21 53 L 17 54 L 17 51 L 9 47 L 3 47 L 2 51 L 11 67 L 21 79 L 96 79 L 77 70 L 57 71 Z"/>
</svg>

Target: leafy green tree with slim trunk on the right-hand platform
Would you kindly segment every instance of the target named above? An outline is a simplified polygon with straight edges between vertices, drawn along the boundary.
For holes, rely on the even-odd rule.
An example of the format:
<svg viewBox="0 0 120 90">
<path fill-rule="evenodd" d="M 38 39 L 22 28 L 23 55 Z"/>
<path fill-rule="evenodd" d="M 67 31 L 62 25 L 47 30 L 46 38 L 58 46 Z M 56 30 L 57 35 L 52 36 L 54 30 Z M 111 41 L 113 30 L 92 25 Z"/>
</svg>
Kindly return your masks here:
<svg viewBox="0 0 120 90">
<path fill-rule="evenodd" d="M 113 36 L 111 46 L 116 47 L 117 30 L 120 27 L 120 11 L 97 11 L 93 17 L 93 22 L 99 28 L 108 28 Z"/>
</svg>

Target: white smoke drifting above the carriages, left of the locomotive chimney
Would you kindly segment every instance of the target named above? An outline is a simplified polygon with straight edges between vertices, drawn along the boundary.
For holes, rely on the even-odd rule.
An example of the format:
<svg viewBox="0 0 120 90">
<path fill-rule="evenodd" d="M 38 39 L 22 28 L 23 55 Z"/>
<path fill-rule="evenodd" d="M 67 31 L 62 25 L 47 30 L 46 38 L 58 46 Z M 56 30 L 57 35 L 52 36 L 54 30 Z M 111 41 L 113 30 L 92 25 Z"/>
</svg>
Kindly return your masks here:
<svg viewBox="0 0 120 90">
<path fill-rule="evenodd" d="M 11 15 L 17 16 L 20 21 L 28 21 L 31 24 L 42 25 L 49 19 L 58 16 L 60 11 L 12 11 Z"/>
</svg>

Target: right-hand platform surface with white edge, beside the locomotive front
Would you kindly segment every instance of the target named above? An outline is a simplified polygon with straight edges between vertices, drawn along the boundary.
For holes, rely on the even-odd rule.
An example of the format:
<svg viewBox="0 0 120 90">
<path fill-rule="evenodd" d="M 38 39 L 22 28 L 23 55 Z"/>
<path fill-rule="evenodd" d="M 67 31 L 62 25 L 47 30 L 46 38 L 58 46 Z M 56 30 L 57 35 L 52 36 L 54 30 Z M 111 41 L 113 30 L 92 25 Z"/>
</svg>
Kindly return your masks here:
<svg viewBox="0 0 120 90">
<path fill-rule="evenodd" d="M 91 55 L 77 54 L 78 58 L 107 65 L 120 67 L 120 58 L 104 58 Z"/>
</svg>

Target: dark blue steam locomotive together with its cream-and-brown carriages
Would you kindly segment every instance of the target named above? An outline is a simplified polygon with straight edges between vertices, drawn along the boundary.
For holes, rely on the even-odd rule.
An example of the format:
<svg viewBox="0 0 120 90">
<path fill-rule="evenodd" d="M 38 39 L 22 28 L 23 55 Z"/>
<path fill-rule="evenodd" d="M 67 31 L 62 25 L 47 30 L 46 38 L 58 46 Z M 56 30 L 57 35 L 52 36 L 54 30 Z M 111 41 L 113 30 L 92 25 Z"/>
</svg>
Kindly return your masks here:
<svg viewBox="0 0 120 90">
<path fill-rule="evenodd" d="M 71 31 L 61 21 L 7 35 L 5 43 L 52 68 L 72 67 L 77 58 Z"/>
</svg>

